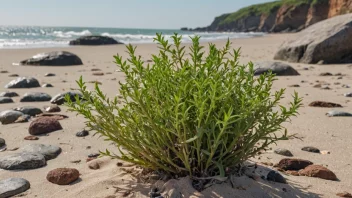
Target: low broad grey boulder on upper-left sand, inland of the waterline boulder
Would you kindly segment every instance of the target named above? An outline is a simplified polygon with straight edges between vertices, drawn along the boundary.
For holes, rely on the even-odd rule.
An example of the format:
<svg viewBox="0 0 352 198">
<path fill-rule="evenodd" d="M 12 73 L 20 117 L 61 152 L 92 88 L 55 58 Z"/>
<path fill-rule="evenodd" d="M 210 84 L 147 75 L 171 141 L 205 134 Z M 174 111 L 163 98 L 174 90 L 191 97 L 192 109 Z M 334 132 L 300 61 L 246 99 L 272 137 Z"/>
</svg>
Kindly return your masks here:
<svg viewBox="0 0 352 198">
<path fill-rule="evenodd" d="M 41 53 L 33 56 L 30 59 L 21 61 L 22 65 L 35 66 L 70 66 L 82 65 L 82 60 L 75 54 L 66 51 L 54 51 Z"/>
</svg>

